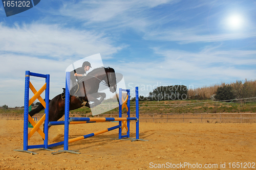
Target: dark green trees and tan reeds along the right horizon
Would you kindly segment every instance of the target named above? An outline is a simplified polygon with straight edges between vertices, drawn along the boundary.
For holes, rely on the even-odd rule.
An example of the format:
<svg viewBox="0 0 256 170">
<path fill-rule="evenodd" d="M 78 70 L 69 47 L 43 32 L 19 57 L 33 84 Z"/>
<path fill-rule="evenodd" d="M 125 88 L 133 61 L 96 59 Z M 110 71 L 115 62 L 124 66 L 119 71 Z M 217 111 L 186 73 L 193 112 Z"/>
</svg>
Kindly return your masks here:
<svg viewBox="0 0 256 170">
<path fill-rule="evenodd" d="M 185 85 L 159 86 L 147 96 L 139 96 L 139 101 L 167 101 L 167 100 L 213 100 L 225 101 L 253 98 L 256 96 L 256 80 L 236 81 L 235 83 L 213 85 L 197 89 L 188 89 Z M 135 101 L 135 98 L 132 98 Z M 242 101 L 242 100 L 240 100 Z"/>
</svg>

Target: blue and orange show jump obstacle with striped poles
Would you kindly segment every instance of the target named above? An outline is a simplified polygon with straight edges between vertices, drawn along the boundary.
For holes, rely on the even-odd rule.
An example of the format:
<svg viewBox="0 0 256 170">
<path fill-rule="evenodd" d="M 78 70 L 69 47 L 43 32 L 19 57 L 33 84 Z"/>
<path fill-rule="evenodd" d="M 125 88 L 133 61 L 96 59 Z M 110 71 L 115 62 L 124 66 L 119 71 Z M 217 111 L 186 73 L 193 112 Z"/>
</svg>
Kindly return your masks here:
<svg viewBox="0 0 256 170">
<path fill-rule="evenodd" d="M 36 91 L 33 85 L 30 83 L 30 76 L 35 77 L 41 77 L 46 78 L 46 84 L 41 87 L 40 90 Z M 69 89 L 70 85 L 70 73 L 66 72 L 66 89 Z M 53 151 L 49 148 L 56 147 L 58 145 L 63 145 L 63 150 L 58 152 L 53 152 L 52 154 L 59 154 L 59 153 L 74 153 L 74 154 L 80 154 L 77 151 L 71 151 L 69 150 L 69 143 L 75 142 L 81 139 L 89 138 L 92 136 L 96 136 L 98 134 L 108 132 L 114 129 L 119 129 L 119 136 L 118 139 L 122 140 L 142 140 L 139 139 L 139 90 L 138 87 L 135 89 L 136 93 L 136 117 L 130 117 L 130 90 L 129 89 L 119 89 L 119 117 L 69 117 L 69 103 L 70 98 L 65 99 L 65 121 L 57 121 L 57 122 L 49 122 L 49 83 L 50 83 L 50 75 L 42 75 L 42 74 L 36 74 L 34 72 L 26 71 L 26 82 L 25 82 L 25 104 L 24 104 L 24 142 L 23 142 L 23 150 L 14 150 L 19 152 L 27 152 L 31 154 L 36 154 L 35 152 L 28 151 L 28 149 L 42 149 L 42 150 L 48 150 Z M 29 100 L 29 88 L 34 93 L 34 96 Z M 46 90 L 44 101 L 40 94 Z M 122 98 L 122 92 L 127 92 L 126 99 L 123 100 Z M 66 90 L 66 96 L 69 96 L 69 90 Z M 36 124 L 34 120 L 30 117 L 28 114 L 29 112 L 29 106 L 38 99 L 41 104 L 45 107 L 45 115 L 42 116 L 42 118 L 38 121 Z M 122 117 L 122 110 L 125 107 L 127 111 L 126 117 Z M 136 121 L 136 138 L 130 137 L 130 121 L 135 120 Z M 70 124 L 83 124 L 83 123 L 98 123 L 98 122 L 112 122 L 112 121 L 118 121 L 119 124 L 117 126 L 98 131 L 95 133 L 87 134 L 84 136 L 76 137 L 73 139 L 69 139 L 69 125 Z M 34 127 L 29 133 L 28 133 L 28 122 L 32 124 Z M 45 122 L 44 126 L 44 132 L 40 130 L 40 125 Z M 65 131 L 64 131 L 64 141 L 48 144 L 48 126 L 54 126 L 54 125 L 64 125 Z M 126 135 L 122 135 L 122 130 L 126 130 Z M 29 138 L 35 133 L 38 132 L 41 137 L 44 139 L 44 144 L 39 145 L 28 145 Z"/>
</svg>

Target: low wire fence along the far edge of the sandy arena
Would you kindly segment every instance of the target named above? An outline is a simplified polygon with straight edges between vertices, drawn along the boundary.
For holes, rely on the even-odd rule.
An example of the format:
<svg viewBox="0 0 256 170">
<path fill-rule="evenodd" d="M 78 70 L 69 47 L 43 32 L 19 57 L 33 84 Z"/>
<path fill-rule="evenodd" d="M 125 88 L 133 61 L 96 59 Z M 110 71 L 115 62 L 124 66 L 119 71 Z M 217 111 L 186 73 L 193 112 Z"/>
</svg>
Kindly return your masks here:
<svg viewBox="0 0 256 170">
<path fill-rule="evenodd" d="M 39 120 L 44 114 L 33 116 Z M 118 117 L 118 114 L 70 114 L 70 117 Z M 125 117 L 125 114 L 123 114 Z M 131 113 L 131 117 L 135 114 Z M 140 122 L 152 123 L 256 123 L 256 113 L 140 114 Z M 23 114 L 0 114 L 0 119 L 23 120 Z M 64 120 L 64 116 L 60 119 Z"/>
</svg>

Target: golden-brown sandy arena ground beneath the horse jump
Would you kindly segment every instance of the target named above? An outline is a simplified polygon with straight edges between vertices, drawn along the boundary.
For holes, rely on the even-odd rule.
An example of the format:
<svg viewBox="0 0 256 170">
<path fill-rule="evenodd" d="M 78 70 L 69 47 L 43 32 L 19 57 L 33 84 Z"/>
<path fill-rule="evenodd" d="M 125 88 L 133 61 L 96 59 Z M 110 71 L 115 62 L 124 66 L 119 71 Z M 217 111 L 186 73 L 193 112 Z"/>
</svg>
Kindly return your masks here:
<svg viewBox="0 0 256 170">
<path fill-rule="evenodd" d="M 117 124 L 71 125 L 70 138 Z M 241 169 L 241 162 L 244 167 L 253 167 L 254 162 L 254 168 L 246 169 L 256 169 L 255 127 L 256 124 L 141 123 L 140 138 L 149 141 L 113 140 L 118 137 L 116 129 L 71 143 L 69 149 L 79 150 L 79 155 L 52 155 L 38 149 L 30 150 L 38 153 L 32 155 L 13 151 L 23 149 L 23 120 L 0 120 L 0 169 L 167 169 L 170 163 L 178 164 L 179 168 L 173 169 L 207 169 L 205 164 L 212 166 L 208 169 L 234 169 L 233 162 L 240 162 L 236 169 Z M 49 131 L 49 143 L 63 140 L 63 126 Z M 131 137 L 134 136 L 135 123 L 131 123 Z M 30 145 L 42 143 L 37 132 L 29 140 Z"/>
</svg>

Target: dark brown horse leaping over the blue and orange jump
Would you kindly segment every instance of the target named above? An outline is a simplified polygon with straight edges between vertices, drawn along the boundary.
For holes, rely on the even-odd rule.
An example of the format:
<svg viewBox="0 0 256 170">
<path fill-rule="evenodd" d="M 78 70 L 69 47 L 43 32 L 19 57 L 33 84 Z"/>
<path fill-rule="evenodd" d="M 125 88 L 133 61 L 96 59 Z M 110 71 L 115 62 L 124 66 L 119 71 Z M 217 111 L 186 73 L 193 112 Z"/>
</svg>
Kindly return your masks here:
<svg viewBox="0 0 256 170">
<path fill-rule="evenodd" d="M 70 76 L 74 75 L 71 72 Z M 86 77 L 83 77 L 70 90 L 70 110 L 78 109 L 82 106 L 95 107 L 104 100 L 106 94 L 98 92 L 99 84 L 103 82 L 110 88 L 111 92 L 116 91 L 116 74 L 113 68 L 96 68 L 89 72 Z M 74 84 L 74 82 L 73 82 Z M 67 98 L 67 96 L 65 96 Z M 99 100 L 97 98 L 100 98 Z M 89 104 L 89 102 L 94 102 Z M 45 109 L 41 104 L 37 108 L 31 110 L 29 115 L 32 117 L 39 111 Z M 63 95 L 56 95 L 49 102 L 49 122 L 59 120 L 65 114 L 65 100 Z"/>
</svg>

